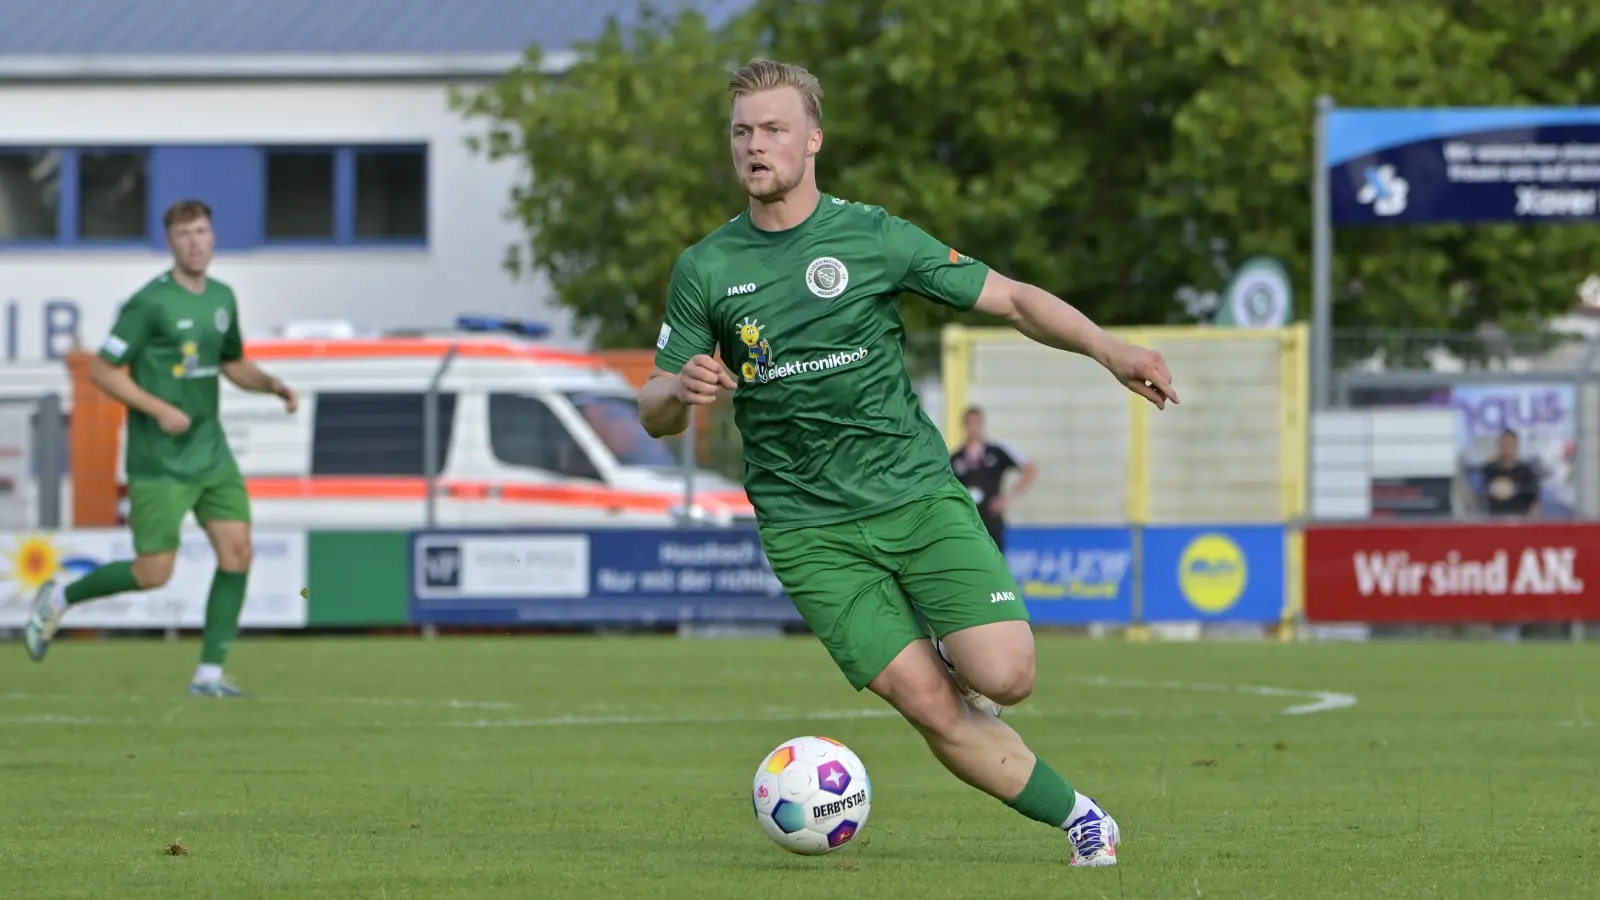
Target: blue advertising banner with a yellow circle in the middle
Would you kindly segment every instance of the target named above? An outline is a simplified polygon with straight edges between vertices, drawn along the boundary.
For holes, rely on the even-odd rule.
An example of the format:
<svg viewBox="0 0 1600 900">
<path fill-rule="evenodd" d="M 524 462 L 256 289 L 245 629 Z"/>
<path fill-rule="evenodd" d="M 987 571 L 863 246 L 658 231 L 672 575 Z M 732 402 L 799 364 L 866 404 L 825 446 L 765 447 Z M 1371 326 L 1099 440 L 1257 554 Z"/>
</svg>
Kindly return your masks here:
<svg viewBox="0 0 1600 900">
<path fill-rule="evenodd" d="M 1278 621 L 1283 525 L 1144 528 L 1144 621 Z"/>
</svg>

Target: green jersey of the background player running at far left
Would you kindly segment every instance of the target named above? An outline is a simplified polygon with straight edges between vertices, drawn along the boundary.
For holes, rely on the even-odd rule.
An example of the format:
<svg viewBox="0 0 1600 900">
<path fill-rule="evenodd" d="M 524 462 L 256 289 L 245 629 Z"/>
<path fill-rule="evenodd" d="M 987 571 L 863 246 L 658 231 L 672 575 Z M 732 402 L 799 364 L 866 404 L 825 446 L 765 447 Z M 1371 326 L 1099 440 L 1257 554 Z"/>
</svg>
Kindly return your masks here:
<svg viewBox="0 0 1600 900">
<path fill-rule="evenodd" d="M 200 480 L 234 464 L 218 418 L 218 368 L 245 356 L 232 288 L 208 277 L 194 293 L 163 272 L 123 304 L 99 356 L 189 416 L 189 431 L 166 434 L 128 410 L 128 479 Z"/>
</svg>

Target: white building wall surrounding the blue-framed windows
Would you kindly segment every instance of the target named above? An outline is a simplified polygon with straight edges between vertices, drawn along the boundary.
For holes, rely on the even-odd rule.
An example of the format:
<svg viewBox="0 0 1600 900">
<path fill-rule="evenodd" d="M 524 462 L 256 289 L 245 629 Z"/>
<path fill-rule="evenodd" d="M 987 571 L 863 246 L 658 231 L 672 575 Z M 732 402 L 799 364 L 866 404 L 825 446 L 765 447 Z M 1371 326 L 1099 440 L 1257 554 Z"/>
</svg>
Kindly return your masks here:
<svg viewBox="0 0 1600 900">
<path fill-rule="evenodd" d="M 514 280 L 506 247 L 512 165 L 464 146 L 478 131 L 448 107 L 440 83 L 6 85 L 0 144 L 427 143 L 429 247 L 219 253 L 216 275 L 238 291 L 248 336 L 291 320 L 349 319 L 368 327 L 438 327 L 458 312 L 539 319 L 550 341 L 576 343 L 542 279 Z M 70 301 L 94 346 L 117 306 L 166 258 L 142 250 L 0 248 L 0 362 L 45 356 L 45 307 Z M 62 314 L 58 314 L 62 315 Z M 13 338 L 10 331 L 16 331 Z M 58 341 L 56 351 L 64 349 Z"/>
</svg>

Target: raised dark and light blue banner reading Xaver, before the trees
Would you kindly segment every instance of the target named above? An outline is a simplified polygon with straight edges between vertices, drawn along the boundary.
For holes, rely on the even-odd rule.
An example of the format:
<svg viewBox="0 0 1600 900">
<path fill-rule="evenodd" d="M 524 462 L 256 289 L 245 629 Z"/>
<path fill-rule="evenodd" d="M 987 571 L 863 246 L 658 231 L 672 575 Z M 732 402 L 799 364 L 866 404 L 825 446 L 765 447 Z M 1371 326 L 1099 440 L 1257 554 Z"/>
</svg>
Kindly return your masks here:
<svg viewBox="0 0 1600 900">
<path fill-rule="evenodd" d="M 1336 224 L 1600 219 L 1600 107 L 1334 109 Z"/>
</svg>

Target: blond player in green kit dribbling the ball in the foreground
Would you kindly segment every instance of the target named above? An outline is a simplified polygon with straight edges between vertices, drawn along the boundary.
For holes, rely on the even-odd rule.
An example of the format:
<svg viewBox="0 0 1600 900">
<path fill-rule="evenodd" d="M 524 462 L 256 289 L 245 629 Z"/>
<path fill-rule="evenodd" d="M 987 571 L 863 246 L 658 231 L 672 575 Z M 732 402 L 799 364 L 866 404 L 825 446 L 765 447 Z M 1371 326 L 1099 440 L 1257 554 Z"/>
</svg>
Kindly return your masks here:
<svg viewBox="0 0 1600 900">
<path fill-rule="evenodd" d="M 851 685 L 891 703 L 958 778 L 1064 830 L 1072 865 L 1114 865 L 1117 823 L 994 714 L 1032 692 L 1034 634 L 912 392 L 899 298 L 1006 319 L 1158 408 L 1178 402 L 1171 373 L 1056 296 L 821 194 L 821 88 L 805 69 L 755 61 L 728 86 L 749 208 L 678 256 L 640 420 L 677 434 L 691 407 L 734 391 L 762 546 Z"/>
</svg>

